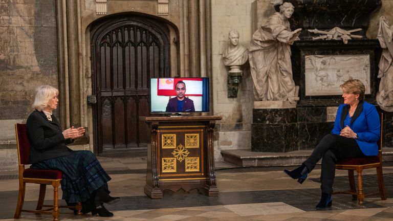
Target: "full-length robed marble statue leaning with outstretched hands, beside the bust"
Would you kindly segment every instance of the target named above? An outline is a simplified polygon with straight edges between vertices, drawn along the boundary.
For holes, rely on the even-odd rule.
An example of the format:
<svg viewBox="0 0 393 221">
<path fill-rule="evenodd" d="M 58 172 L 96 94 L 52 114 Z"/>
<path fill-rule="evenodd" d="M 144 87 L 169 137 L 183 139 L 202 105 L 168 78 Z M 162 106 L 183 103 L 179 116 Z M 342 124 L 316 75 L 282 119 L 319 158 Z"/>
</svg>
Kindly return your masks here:
<svg viewBox="0 0 393 221">
<path fill-rule="evenodd" d="M 291 47 L 301 29 L 291 31 L 288 19 L 294 12 L 291 3 L 284 3 L 280 12 L 268 18 L 252 36 L 249 62 L 256 101 L 298 100 L 298 86 L 292 78 Z"/>
</svg>

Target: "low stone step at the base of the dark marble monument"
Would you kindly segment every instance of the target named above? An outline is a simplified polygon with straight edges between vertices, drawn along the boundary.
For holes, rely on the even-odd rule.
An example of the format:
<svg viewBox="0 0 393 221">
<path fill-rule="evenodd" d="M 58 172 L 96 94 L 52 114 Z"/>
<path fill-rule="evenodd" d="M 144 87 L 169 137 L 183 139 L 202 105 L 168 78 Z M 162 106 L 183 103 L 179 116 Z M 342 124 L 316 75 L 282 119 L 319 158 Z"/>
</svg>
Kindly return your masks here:
<svg viewBox="0 0 393 221">
<path fill-rule="evenodd" d="M 305 161 L 312 150 L 292 152 L 251 152 L 251 149 L 221 150 L 225 162 L 239 167 L 296 166 Z M 384 162 L 393 162 L 393 148 L 383 148 Z"/>
</svg>

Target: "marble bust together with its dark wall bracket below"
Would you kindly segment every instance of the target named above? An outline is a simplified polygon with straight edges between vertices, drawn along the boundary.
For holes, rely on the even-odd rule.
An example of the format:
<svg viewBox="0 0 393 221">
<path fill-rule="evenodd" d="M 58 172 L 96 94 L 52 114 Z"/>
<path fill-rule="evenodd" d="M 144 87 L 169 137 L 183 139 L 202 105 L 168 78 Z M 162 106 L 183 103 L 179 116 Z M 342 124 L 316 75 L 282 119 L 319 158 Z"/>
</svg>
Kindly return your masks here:
<svg viewBox="0 0 393 221">
<path fill-rule="evenodd" d="M 237 30 L 231 30 L 228 34 L 229 45 L 223 52 L 223 61 L 229 66 L 228 72 L 228 97 L 237 97 L 237 88 L 242 82 L 243 71 L 241 65 L 248 60 L 248 50 L 246 47 L 239 45 L 239 33 Z"/>
</svg>

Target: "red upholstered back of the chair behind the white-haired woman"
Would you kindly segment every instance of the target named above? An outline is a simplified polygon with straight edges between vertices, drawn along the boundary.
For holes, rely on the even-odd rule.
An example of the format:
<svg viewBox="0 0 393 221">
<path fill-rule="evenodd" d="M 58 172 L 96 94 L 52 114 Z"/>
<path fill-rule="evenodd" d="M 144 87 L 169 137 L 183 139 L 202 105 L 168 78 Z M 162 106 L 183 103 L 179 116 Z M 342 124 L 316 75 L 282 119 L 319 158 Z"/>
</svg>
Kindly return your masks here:
<svg viewBox="0 0 393 221">
<path fill-rule="evenodd" d="M 19 165 L 29 164 L 30 141 L 27 136 L 26 124 L 15 124 L 15 134 Z"/>
</svg>

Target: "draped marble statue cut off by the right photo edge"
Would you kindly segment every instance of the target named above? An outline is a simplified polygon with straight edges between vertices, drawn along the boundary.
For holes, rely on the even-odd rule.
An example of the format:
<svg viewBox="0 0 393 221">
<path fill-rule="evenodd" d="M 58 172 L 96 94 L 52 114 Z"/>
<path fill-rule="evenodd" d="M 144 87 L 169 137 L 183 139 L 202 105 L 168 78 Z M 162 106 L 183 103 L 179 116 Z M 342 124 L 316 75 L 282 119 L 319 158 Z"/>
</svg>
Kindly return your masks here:
<svg viewBox="0 0 393 221">
<path fill-rule="evenodd" d="M 378 78 L 381 78 L 381 81 L 376 100 L 381 109 L 393 112 L 393 26 L 382 16 L 378 27 L 377 39 L 382 48 L 382 56 L 378 64 Z"/>
</svg>

